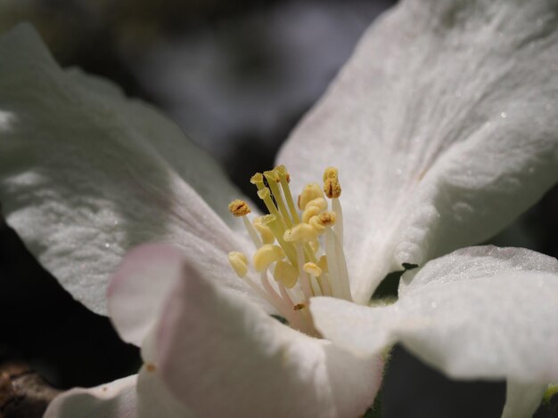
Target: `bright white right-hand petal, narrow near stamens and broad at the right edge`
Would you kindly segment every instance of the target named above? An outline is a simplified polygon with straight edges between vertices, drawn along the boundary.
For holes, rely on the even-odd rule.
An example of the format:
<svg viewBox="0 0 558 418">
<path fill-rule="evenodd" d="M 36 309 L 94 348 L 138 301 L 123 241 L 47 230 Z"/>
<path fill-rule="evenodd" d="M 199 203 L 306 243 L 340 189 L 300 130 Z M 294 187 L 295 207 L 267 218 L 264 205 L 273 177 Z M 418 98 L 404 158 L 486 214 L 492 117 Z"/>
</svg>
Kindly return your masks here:
<svg viewBox="0 0 558 418">
<path fill-rule="evenodd" d="M 558 380 L 557 265 L 524 249 L 465 249 L 426 264 L 390 306 L 318 298 L 310 309 L 360 355 L 402 342 L 451 377 L 546 384 Z"/>
</svg>

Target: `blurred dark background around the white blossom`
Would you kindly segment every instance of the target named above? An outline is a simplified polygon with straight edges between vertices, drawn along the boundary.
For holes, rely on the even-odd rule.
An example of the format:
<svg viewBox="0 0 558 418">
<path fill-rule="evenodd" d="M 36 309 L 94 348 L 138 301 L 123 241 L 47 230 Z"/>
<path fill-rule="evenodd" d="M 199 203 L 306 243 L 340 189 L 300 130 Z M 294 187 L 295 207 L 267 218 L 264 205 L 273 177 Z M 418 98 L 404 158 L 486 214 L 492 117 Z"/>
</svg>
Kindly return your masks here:
<svg viewBox="0 0 558 418">
<path fill-rule="evenodd" d="M 0 32 L 31 21 L 62 66 L 158 105 L 246 189 L 391 0 L 2 0 Z M 558 253 L 558 191 L 491 242 Z M 59 389 L 133 374 L 138 351 L 73 301 L 0 221 L 0 365 L 22 360 Z M 0 368 L 0 372 L 2 369 Z M 17 415 L 3 404 L 0 418 Z M 497 417 L 504 382 L 452 382 L 396 347 L 386 418 Z M 13 400 L 10 400 L 13 402 Z M 546 406 L 537 417 L 558 416 Z M 38 415 L 37 415 L 38 416 Z"/>
</svg>

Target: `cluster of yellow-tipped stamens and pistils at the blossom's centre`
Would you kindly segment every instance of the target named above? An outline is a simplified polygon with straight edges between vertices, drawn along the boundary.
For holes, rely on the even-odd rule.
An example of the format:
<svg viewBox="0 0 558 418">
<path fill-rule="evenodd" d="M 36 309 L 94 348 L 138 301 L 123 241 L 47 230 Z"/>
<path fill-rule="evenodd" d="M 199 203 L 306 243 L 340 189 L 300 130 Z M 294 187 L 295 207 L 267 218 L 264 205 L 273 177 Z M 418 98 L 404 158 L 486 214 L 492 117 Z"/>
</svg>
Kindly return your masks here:
<svg viewBox="0 0 558 418">
<path fill-rule="evenodd" d="M 343 253 L 337 169 L 325 169 L 323 187 L 312 183 L 302 189 L 297 201 L 300 213 L 292 200 L 290 176 L 283 165 L 254 174 L 250 182 L 258 188 L 258 197 L 269 213 L 250 221 L 246 202 L 234 200 L 229 205 L 230 212 L 242 218 L 256 252 L 251 264 L 245 254 L 236 251 L 229 253 L 228 259 L 236 274 L 293 328 L 317 335 L 308 312 L 312 296 L 352 301 Z M 259 273 L 259 280 L 248 277 L 249 269 Z"/>
</svg>

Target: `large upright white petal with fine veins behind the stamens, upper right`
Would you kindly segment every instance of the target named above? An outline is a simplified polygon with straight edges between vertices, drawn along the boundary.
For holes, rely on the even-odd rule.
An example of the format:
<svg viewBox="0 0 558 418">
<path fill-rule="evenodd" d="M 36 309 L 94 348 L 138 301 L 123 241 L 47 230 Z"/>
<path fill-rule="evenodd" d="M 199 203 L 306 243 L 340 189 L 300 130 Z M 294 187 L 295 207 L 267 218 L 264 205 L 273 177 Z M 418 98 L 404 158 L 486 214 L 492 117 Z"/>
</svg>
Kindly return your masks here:
<svg viewBox="0 0 558 418">
<path fill-rule="evenodd" d="M 558 178 L 554 0 L 402 1 L 284 146 L 340 169 L 351 287 L 495 234 Z"/>
</svg>

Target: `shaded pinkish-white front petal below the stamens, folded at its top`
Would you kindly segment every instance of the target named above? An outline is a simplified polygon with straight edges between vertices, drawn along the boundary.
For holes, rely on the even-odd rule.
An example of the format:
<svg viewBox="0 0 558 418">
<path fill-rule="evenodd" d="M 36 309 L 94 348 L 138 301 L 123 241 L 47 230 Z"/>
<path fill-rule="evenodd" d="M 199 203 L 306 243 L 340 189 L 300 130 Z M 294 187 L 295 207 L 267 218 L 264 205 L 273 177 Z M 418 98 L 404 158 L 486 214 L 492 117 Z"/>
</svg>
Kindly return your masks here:
<svg viewBox="0 0 558 418">
<path fill-rule="evenodd" d="M 300 334 L 187 267 L 144 345 L 176 398 L 196 416 L 363 414 L 382 360 Z"/>
</svg>

